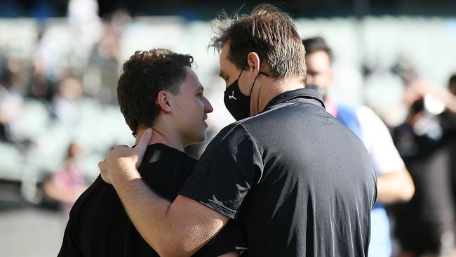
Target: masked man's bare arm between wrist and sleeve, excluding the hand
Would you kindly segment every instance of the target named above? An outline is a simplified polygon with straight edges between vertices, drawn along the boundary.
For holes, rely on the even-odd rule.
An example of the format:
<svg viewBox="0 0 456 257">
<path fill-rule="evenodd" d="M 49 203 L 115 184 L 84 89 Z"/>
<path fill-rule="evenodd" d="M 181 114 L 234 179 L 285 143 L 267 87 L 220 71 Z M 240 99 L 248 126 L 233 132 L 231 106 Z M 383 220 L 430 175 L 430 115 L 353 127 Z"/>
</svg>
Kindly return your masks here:
<svg viewBox="0 0 456 257">
<path fill-rule="evenodd" d="M 139 176 L 114 180 L 113 185 L 135 228 L 160 256 L 192 256 L 228 220 L 220 219 L 219 213 L 203 213 L 208 207 L 182 196 L 171 204 L 150 190 Z M 217 221 L 208 225 L 206 219 Z"/>
</svg>

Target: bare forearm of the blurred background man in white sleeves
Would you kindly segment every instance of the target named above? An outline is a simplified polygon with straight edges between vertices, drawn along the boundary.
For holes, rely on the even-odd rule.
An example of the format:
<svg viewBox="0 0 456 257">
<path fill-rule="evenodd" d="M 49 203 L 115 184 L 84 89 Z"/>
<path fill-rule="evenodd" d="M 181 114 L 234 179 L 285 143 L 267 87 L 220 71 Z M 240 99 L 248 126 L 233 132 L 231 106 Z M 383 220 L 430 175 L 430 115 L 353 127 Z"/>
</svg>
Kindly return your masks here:
<svg viewBox="0 0 456 257">
<path fill-rule="evenodd" d="M 377 177 L 378 202 L 408 202 L 414 194 L 415 185 L 405 168 Z"/>
</svg>

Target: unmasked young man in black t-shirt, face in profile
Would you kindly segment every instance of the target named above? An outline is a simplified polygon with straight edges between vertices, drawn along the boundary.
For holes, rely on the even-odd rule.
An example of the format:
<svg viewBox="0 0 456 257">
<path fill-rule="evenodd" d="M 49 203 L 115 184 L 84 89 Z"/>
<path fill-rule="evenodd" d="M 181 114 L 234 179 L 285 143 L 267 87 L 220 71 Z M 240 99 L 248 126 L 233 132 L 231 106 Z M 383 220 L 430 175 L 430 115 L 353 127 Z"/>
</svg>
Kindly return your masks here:
<svg viewBox="0 0 456 257">
<path fill-rule="evenodd" d="M 168 201 L 177 197 L 196 164 L 183 148 L 206 139 L 205 120 L 213 111 L 192 62 L 190 55 L 165 49 L 138 51 L 123 65 L 117 87 L 121 112 L 137 148 L 145 150 L 142 180 Z M 154 129 L 154 138 L 140 142 L 147 128 Z M 231 223 L 196 256 L 237 256 L 236 247 L 245 246 L 241 240 L 239 228 Z M 74 204 L 58 256 L 159 254 L 135 230 L 112 185 L 99 177 Z"/>
</svg>

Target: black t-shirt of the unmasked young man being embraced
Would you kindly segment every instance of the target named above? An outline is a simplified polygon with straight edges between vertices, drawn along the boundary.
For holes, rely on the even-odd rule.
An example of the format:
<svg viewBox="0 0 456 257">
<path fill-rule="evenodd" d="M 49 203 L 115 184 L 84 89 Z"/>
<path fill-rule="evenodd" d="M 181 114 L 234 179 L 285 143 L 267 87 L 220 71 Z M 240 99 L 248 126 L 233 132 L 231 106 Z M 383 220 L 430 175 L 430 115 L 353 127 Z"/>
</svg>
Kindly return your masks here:
<svg viewBox="0 0 456 257">
<path fill-rule="evenodd" d="M 163 144 L 149 145 L 140 166 L 142 179 L 173 201 L 194 169 L 196 160 Z M 194 256 L 218 256 L 246 247 L 235 222 L 229 222 Z M 99 176 L 69 213 L 58 256 L 159 256 L 128 218 L 112 185 Z"/>
</svg>

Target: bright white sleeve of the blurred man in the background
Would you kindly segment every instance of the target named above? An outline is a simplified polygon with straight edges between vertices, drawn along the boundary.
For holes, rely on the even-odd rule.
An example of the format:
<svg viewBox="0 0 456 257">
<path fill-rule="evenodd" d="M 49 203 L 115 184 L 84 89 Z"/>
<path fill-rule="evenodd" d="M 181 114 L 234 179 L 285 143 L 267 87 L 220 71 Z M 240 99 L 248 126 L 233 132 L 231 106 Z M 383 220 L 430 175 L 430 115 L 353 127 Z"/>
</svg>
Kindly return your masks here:
<svg viewBox="0 0 456 257">
<path fill-rule="evenodd" d="M 356 116 L 361 126 L 363 143 L 374 164 L 375 173 L 383 175 L 402 169 L 404 167 L 403 160 L 382 119 L 366 106 L 358 107 Z"/>
</svg>

